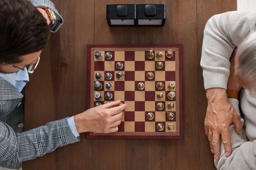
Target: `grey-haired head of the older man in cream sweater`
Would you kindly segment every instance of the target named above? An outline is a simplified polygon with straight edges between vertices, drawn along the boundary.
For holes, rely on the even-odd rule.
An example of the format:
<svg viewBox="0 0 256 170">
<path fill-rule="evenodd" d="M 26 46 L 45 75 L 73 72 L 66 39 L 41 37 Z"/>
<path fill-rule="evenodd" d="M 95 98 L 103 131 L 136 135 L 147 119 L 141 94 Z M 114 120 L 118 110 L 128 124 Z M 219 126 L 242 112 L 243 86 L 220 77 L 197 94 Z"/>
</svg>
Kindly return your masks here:
<svg viewBox="0 0 256 170">
<path fill-rule="evenodd" d="M 241 86 L 256 94 L 256 33 L 238 46 L 235 65 L 235 75 Z"/>
</svg>

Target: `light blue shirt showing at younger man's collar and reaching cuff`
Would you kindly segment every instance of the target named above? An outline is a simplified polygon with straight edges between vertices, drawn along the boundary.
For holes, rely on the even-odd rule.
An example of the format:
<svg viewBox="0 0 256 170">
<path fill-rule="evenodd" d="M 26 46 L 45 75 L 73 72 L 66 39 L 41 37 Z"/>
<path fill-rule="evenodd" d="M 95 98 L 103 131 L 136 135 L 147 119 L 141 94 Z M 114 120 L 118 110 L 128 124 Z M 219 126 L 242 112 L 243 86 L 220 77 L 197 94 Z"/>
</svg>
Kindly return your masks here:
<svg viewBox="0 0 256 170">
<path fill-rule="evenodd" d="M 7 82 L 10 82 L 18 90 L 18 92 L 21 92 L 26 86 L 27 82 L 30 81 L 30 76 L 28 75 L 26 67 L 24 68 L 24 71 L 20 70 L 15 73 L 0 73 L 0 77 L 7 80 Z M 68 118 L 68 126 L 70 126 L 74 136 L 79 137 L 79 133 L 75 127 L 74 116 Z"/>
</svg>

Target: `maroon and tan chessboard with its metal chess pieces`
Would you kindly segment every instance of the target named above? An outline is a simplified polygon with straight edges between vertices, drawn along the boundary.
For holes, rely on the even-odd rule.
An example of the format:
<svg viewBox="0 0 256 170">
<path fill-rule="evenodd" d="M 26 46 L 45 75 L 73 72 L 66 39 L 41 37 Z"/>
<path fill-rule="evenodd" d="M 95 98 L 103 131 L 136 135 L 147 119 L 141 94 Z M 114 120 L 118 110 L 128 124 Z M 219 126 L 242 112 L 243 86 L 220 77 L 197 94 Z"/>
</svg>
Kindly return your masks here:
<svg viewBox="0 0 256 170">
<path fill-rule="evenodd" d="M 116 133 L 87 139 L 182 139 L 182 45 L 89 44 L 87 109 L 127 104 Z"/>
</svg>

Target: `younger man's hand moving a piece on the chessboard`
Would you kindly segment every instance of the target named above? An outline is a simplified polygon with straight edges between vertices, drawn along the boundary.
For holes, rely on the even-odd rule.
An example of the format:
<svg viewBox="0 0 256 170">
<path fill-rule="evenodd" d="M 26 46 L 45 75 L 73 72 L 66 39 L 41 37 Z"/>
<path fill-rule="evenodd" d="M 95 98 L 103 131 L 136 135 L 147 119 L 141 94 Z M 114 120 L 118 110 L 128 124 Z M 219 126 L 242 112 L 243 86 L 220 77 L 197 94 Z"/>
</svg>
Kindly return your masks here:
<svg viewBox="0 0 256 170">
<path fill-rule="evenodd" d="M 121 101 L 113 101 L 99 105 L 74 116 L 78 133 L 112 133 L 121 124 L 122 112 L 127 105 L 119 105 Z"/>
</svg>

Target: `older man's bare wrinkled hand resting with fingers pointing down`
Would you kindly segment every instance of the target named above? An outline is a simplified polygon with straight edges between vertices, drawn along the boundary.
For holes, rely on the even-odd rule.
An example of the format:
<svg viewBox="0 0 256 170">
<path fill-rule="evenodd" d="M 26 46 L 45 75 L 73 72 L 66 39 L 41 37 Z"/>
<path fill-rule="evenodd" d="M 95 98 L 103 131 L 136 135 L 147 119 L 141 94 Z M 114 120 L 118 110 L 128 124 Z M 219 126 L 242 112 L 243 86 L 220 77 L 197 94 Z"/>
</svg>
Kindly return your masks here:
<svg viewBox="0 0 256 170">
<path fill-rule="evenodd" d="M 222 88 L 208 89 L 206 97 L 208 105 L 205 116 L 205 135 L 209 139 L 211 152 L 215 159 L 219 159 L 222 139 L 225 155 L 230 156 L 229 127 L 230 124 L 234 124 L 236 133 L 239 134 L 242 131 L 240 117 L 228 102 L 226 90 Z"/>
</svg>

